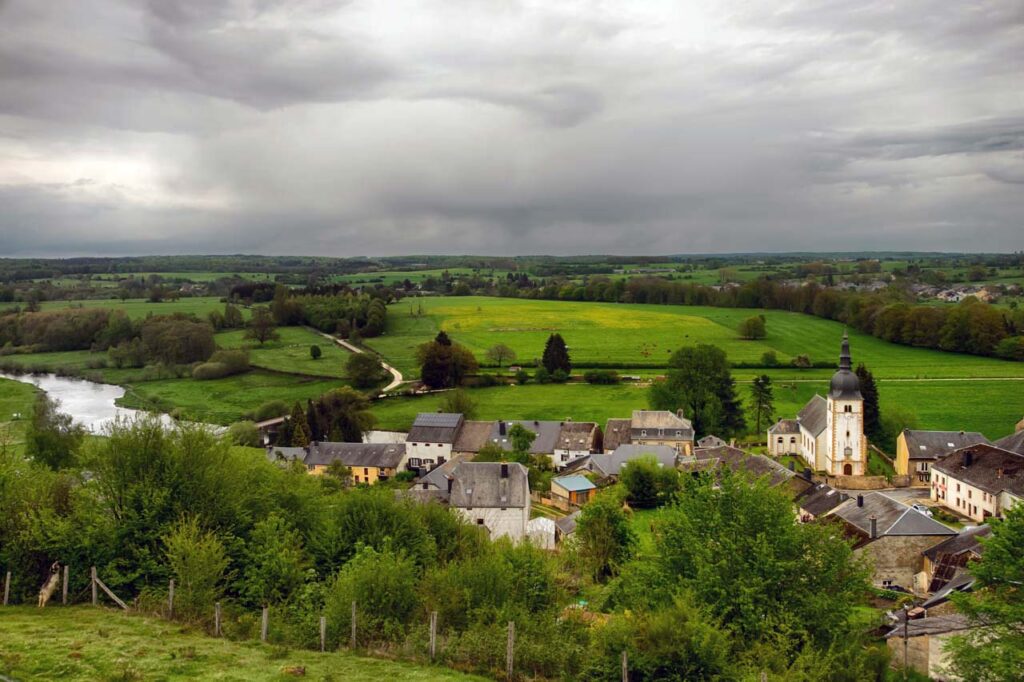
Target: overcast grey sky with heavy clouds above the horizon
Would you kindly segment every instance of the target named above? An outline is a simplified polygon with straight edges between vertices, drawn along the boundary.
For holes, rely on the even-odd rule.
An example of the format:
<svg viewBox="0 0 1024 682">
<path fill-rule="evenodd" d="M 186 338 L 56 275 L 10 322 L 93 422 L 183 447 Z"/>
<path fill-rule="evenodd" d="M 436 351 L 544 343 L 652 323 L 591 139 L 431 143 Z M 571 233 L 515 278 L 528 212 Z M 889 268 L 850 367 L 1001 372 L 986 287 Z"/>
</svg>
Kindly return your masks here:
<svg viewBox="0 0 1024 682">
<path fill-rule="evenodd" d="M 0 255 L 896 249 L 1024 249 L 1024 2 L 0 0 Z"/>
</svg>

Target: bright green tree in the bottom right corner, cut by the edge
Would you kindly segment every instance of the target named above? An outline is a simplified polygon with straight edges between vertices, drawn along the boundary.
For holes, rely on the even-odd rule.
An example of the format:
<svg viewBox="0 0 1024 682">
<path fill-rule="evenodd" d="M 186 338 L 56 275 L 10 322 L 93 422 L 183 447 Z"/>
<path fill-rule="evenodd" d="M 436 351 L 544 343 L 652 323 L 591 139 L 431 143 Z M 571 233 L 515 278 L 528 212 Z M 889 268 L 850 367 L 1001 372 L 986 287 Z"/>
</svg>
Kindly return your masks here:
<svg viewBox="0 0 1024 682">
<path fill-rule="evenodd" d="M 949 672 L 958 679 L 1010 682 L 1024 669 L 1024 506 L 989 524 L 992 535 L 981 541 L 985 552 L 971 562 L 978 584 L 973 592 L 952 596 L 978 630 L 954 637 L 946 651 Z"/>
</svg>

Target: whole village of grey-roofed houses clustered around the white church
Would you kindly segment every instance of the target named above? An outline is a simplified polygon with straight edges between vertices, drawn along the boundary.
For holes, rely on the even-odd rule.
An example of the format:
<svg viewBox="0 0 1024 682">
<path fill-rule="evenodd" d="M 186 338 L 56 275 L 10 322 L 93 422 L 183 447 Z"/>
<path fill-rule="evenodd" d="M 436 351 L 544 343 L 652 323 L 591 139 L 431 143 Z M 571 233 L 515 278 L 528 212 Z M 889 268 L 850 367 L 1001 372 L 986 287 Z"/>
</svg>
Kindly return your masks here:
<svg viewBox="0 0 1024 682">
<path fill-rule="evenodd" d="M 911 667 L 937 675 L 944 666 L 942 641 L 970 627 L 949 597 L 975 584 L 970 562 L 983 552 L 986 522 L 1024 500 L 1024 419 L 994 442 L 976 432 L 904 430 L 896 443 L 896 475 L 870 476 L 864 401 L 851 368 L 844 336 L 827 394 L 771 425 L 767 455 L 714 435 L 695 439 L 683 414 L 651 410 L 609 419 L 603 428 L 571 419 L 473 421 L 422 413 L 408 433 L 370 431 L 364 442 L 268 444 L 266 452 L 273 461 L 301 462 L 312 475 L 345 467 L 352 484 L 409 472 L 412 482 L 400 495 L 446 505 L 492 538 L 528 539 L 551 550 L 572 536 L 580 509 L 640 458 L 693 475 L 728 468 L 763 477 L 792 498 L 800 522 L 838 521 L 855 553 L 873 565 L 877 588 L 914 598 L 912 608 L 891 614 L 888 639 L 894 647 L 906 643 Z M 485 449 L 511 452 L 517 426 L 535 436 L 528 454 L 555 472 L 550 491 L 531 489 L 519 462 L 474 461 Z M 535 505 L 564 515 L 534 514 Z"/>
</svg>

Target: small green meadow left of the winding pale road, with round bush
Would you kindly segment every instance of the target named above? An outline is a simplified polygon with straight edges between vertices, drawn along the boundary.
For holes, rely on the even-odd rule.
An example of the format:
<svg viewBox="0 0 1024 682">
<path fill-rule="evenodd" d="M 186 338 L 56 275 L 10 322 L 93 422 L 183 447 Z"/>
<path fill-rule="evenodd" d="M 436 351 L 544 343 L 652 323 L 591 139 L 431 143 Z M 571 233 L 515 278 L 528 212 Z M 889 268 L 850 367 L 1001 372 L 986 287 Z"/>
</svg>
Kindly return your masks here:
<svg viewBox="0 0 1024 682">
<path fill-rule="evenodd" d="M 338 344 L 303 327 L 281 327 L 278 333 L 280 340 L 267 341 L 262 346 L 245 339 L 242 330 L 221 332 L 216 340 L 221 348 L 248 348 L 249 359 L 255 367 L 289 374 L 345 377 L 345 363 L 351 353 Z M 324 354 L 319 359 L 314 360 L 309 355 L 311 345 L 321 347 Z"/>
</svg>

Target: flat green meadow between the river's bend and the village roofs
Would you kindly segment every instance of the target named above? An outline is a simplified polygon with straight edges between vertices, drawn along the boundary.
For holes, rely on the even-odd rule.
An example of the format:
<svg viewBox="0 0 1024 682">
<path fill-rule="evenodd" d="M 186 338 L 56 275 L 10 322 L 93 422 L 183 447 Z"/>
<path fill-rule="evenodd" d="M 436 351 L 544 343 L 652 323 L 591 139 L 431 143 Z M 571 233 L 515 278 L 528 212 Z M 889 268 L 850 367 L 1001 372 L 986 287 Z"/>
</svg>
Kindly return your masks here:
<svg viewBox="0 0 1024 682">
<path fill-rule="evenodd" d="M 337 379 L 306 378 L 257 370 L 209 381 L 187 378 L 129 384 L 119 404 L 157 412 L 177 409 L 183 419 L 230 424 L 268 400 L 304 402 L 343 385 Z"/>
</svg>

